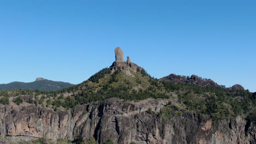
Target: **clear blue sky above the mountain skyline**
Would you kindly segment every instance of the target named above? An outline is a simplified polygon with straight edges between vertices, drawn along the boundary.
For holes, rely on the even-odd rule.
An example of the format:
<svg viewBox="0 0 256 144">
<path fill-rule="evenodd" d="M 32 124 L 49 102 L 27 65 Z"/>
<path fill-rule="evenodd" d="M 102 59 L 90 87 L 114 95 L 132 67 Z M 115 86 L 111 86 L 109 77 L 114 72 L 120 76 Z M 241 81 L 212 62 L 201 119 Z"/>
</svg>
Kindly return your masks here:
<svg viewBox="0 0 256 144">
<path fill-rule="evenodd" d="M 114 48 L 154 77 L 256 91 L 255 1 L 0 1 L 0 83 L 80 83 Z"/>
</svg>

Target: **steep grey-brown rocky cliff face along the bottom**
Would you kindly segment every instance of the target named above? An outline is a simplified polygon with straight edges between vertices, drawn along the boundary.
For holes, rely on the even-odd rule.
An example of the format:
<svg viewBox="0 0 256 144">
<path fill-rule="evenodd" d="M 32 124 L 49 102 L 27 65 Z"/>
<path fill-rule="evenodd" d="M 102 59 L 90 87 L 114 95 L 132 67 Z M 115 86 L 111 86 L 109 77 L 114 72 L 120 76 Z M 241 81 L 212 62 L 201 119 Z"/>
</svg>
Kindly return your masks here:
<svg viewBox="0 0 256 144">
<path fill-rule="evenodd" d="M 57 111 L 0 104 L 0 135 L 98 143 L 256 143 L 256 122 L 238 116 L 213 124 L 210 117 L 184 110 L 166 118 L 159 113 L 166 105 L 167 100 L 114 98 Z"/>
</svg>

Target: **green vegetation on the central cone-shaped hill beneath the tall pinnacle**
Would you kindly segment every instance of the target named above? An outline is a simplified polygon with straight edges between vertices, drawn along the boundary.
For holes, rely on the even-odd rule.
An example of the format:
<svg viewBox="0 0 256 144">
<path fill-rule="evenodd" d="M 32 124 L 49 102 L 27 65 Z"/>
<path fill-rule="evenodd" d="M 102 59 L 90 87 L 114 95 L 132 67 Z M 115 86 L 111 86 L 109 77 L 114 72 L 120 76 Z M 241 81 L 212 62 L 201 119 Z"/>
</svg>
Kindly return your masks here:
<svg viewBox="0 0 256 144">
<path fill-rule="evenodd" d="M 73 108 L 78 104 L 88 104 L 93 101 L 101 101 L 108 98 L 121 98 L 126 100 L 143 100 L 147 98 L 170 98 L 170 96 L 159 91 L 161 83 L 148 77 L 146 71 L 134 73 L 127 71 L 132 76 L 127 76 L 123 71 L 115 71 L 110 74 L 108 69 L 102 69 L 95 75 L 91 76 L 88 81 L 81 83 L 79 86 L 66 88 L 67 91 L 76 91 L 69 97 L 58 97 L 51 100 L 51 104 L 56 107 Z M 73 90 L 72 90 L 73 89 Z M 57 95 L 57 93 L 51 93 Z"/>
</svg>

